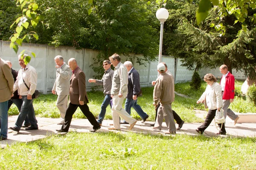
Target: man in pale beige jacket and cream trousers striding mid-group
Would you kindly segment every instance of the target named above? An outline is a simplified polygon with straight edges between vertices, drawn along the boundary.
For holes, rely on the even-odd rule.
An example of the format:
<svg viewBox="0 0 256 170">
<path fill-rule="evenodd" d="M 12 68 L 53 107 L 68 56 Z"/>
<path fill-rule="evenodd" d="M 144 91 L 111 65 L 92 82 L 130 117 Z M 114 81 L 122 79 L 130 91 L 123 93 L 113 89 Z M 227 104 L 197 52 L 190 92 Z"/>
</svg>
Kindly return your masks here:
<svg viewBox="0 0 256 170">
<path fill-rule="evenodd" d="M 137 120 L 133 119 L 126 111 L 122 108 L 122 103 L 128 92 L 128 72 L 121 63 L 121 58 L 118 54 L 113 54 L 109 57 L 112 65 L 115 67 L 112 88 L 111 88 L 111 97 L 112 97 L 112 116 L 113 116 L 113 125 L 114 127 L 108 128 L 109 130 L 119 130 L 121 129 L 119 124 L 119 116 L 121 116 L 126 122 L 130 124 L 129 130 L 131 130 L 136 124 Z"/>
</svg>

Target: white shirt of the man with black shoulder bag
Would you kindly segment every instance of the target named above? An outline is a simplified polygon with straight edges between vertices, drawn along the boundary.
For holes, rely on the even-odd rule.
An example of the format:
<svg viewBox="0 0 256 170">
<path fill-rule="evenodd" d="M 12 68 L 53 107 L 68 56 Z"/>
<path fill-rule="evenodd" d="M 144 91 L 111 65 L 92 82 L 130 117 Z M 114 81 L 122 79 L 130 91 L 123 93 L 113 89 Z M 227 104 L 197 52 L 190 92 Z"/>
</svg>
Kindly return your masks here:
<svg viewBox="0 0 256 170">
<path fill-rule="evenodd" d="M 29 87 L 26 87 L 26 85 L 23 82 L 26 82 L 26 85 Z M 28 94 L 32 95 L 35 93 L 37 85 L 37 73 L 34 67 L 27 64 L 26 68 L 21 68 L 19 70 L 17 80 L 14 84 L 14 91 L 18 90 L 18 94 L 21 96 L 27 96 Z"/>
</svg>

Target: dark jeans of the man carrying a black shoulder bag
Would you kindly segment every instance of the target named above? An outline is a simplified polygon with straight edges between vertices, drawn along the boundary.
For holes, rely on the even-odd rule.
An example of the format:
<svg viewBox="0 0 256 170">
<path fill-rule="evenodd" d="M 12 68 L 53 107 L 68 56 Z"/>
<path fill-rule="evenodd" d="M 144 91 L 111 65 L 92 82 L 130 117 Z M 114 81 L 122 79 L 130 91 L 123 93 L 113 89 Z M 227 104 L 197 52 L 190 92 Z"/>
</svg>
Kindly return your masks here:
<svg viewBox="0 0 256 170">
<path fill-rule="evenodd" d="M 26 116 L 28 116 L 29 122 L 31 123 L 31 127 L 38 128 L 37 120 L 35 119 L 33 99 L 29 100 L 27 99 L 27 96 L 22 96 L 22 100 L 23 100 L 23 103 L 20 109 L 20 114 L 15 123 L 15 127 L 20 130 L 20 127 L 22 126 Z"/>
</svg>

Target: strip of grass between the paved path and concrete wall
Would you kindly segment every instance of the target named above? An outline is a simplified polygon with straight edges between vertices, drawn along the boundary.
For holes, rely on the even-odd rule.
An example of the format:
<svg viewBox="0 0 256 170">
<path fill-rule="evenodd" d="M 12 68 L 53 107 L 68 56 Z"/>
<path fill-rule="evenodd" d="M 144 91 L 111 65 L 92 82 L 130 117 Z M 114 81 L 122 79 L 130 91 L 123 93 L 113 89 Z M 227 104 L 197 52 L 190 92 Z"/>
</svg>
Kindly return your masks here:
<svg viewBox="0 0 256 170">
<path fill-rule="evenodd" d="M 185 83 L 177 83 L 175 85 L 175 91 L 180 94 L 184 94 L 189 96 L 190 98 L 184 98 L 178 95 L 175 95 L 175 102 L 172 103 L 172 109 L 175 110 L 179 116 L 185 121 L 185 122 L 203 122 L 203 119 L 198 118 L 195 116 L 195 109 L 197 110 L 205 110 L 203 104 L 196 104 L 196 101 L 200 98 L 200 96 L 203 94 L 206 88 L 206 83 L 202 82 L 202 87 L 198 90 L 192 90 L 189 86 L 189 82 Z M 241 81 L 236 81 L 236 97 L 235 101 L 230 105 L 230 108 L 233 111 L 239 112 L 239 113 L 256 113 L 256 107 L 253 105 L 253 103 L 244 100 L 243 97 L 241 97 Z M 154 121 L 155 117 L 155 111 L 153 103 L 153 87 L 148 88 L 142 88 L 143 90 L 143 96 L 138 98 L 138 104 L 143 108 L 143 111 L 149 115 L 148 120 Z M 101 110 L 101 104 L 104 100 L 104 95 L 101 91 L 90 91 L 87 92 L 88 98 L 89 98 L 89 108 L 90 111 L 93 113 L 95 117 L 99 115 L 99 112 Z M 49 118 L 59 118 L 60 113 L 58 111 L 58 108 L 55 106 L 57 96 L 53 94 L 41 94 L 38 99 L 34 100 L 34 109 L 35 114 L 39 117 L 49 117 Z M 124 101 L 125 103 L 125 101 Z M 124 107 L 123 103 L 123 107 Z M 18 109 L 15 105 L 12 105 L 12 107 L 9 110 L 9 115 L 17 115 Z M 140 120 L 140 116 L 134 111 L 134 109 L 131 109 L 131 115 L 134 119 Z M 76 113 L 73 115 L 73 118 L 78 119 L 84 119 L 85 116 L 81 112 L 81 110 L 78 108 Z M 112 119 L 111 109 L 110 107 L 107 108 L 105 119 Z"/>
</svg>

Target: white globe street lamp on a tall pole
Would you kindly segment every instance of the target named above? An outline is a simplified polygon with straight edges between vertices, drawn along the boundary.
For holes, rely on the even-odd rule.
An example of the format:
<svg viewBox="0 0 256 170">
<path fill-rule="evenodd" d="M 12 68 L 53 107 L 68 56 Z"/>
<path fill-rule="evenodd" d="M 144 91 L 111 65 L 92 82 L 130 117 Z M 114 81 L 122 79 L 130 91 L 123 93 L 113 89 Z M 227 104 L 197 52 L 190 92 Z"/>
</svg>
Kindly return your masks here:
<svg viewBox="0 0 256 170">
<path fill-rule="evenodd" d="M 163 23 L 169 17 L 169 12 L 166 8 L 160 8 L 156 13 L 157 19 L 160 21 L 161 30 L 160 30 L 160 45 L 159 45 L 159 58 L 158 63 L 162 62 L 162 46 L 163 46 Z M 158 73 L 159 74 L 159 73 Z"/>
</svg>

